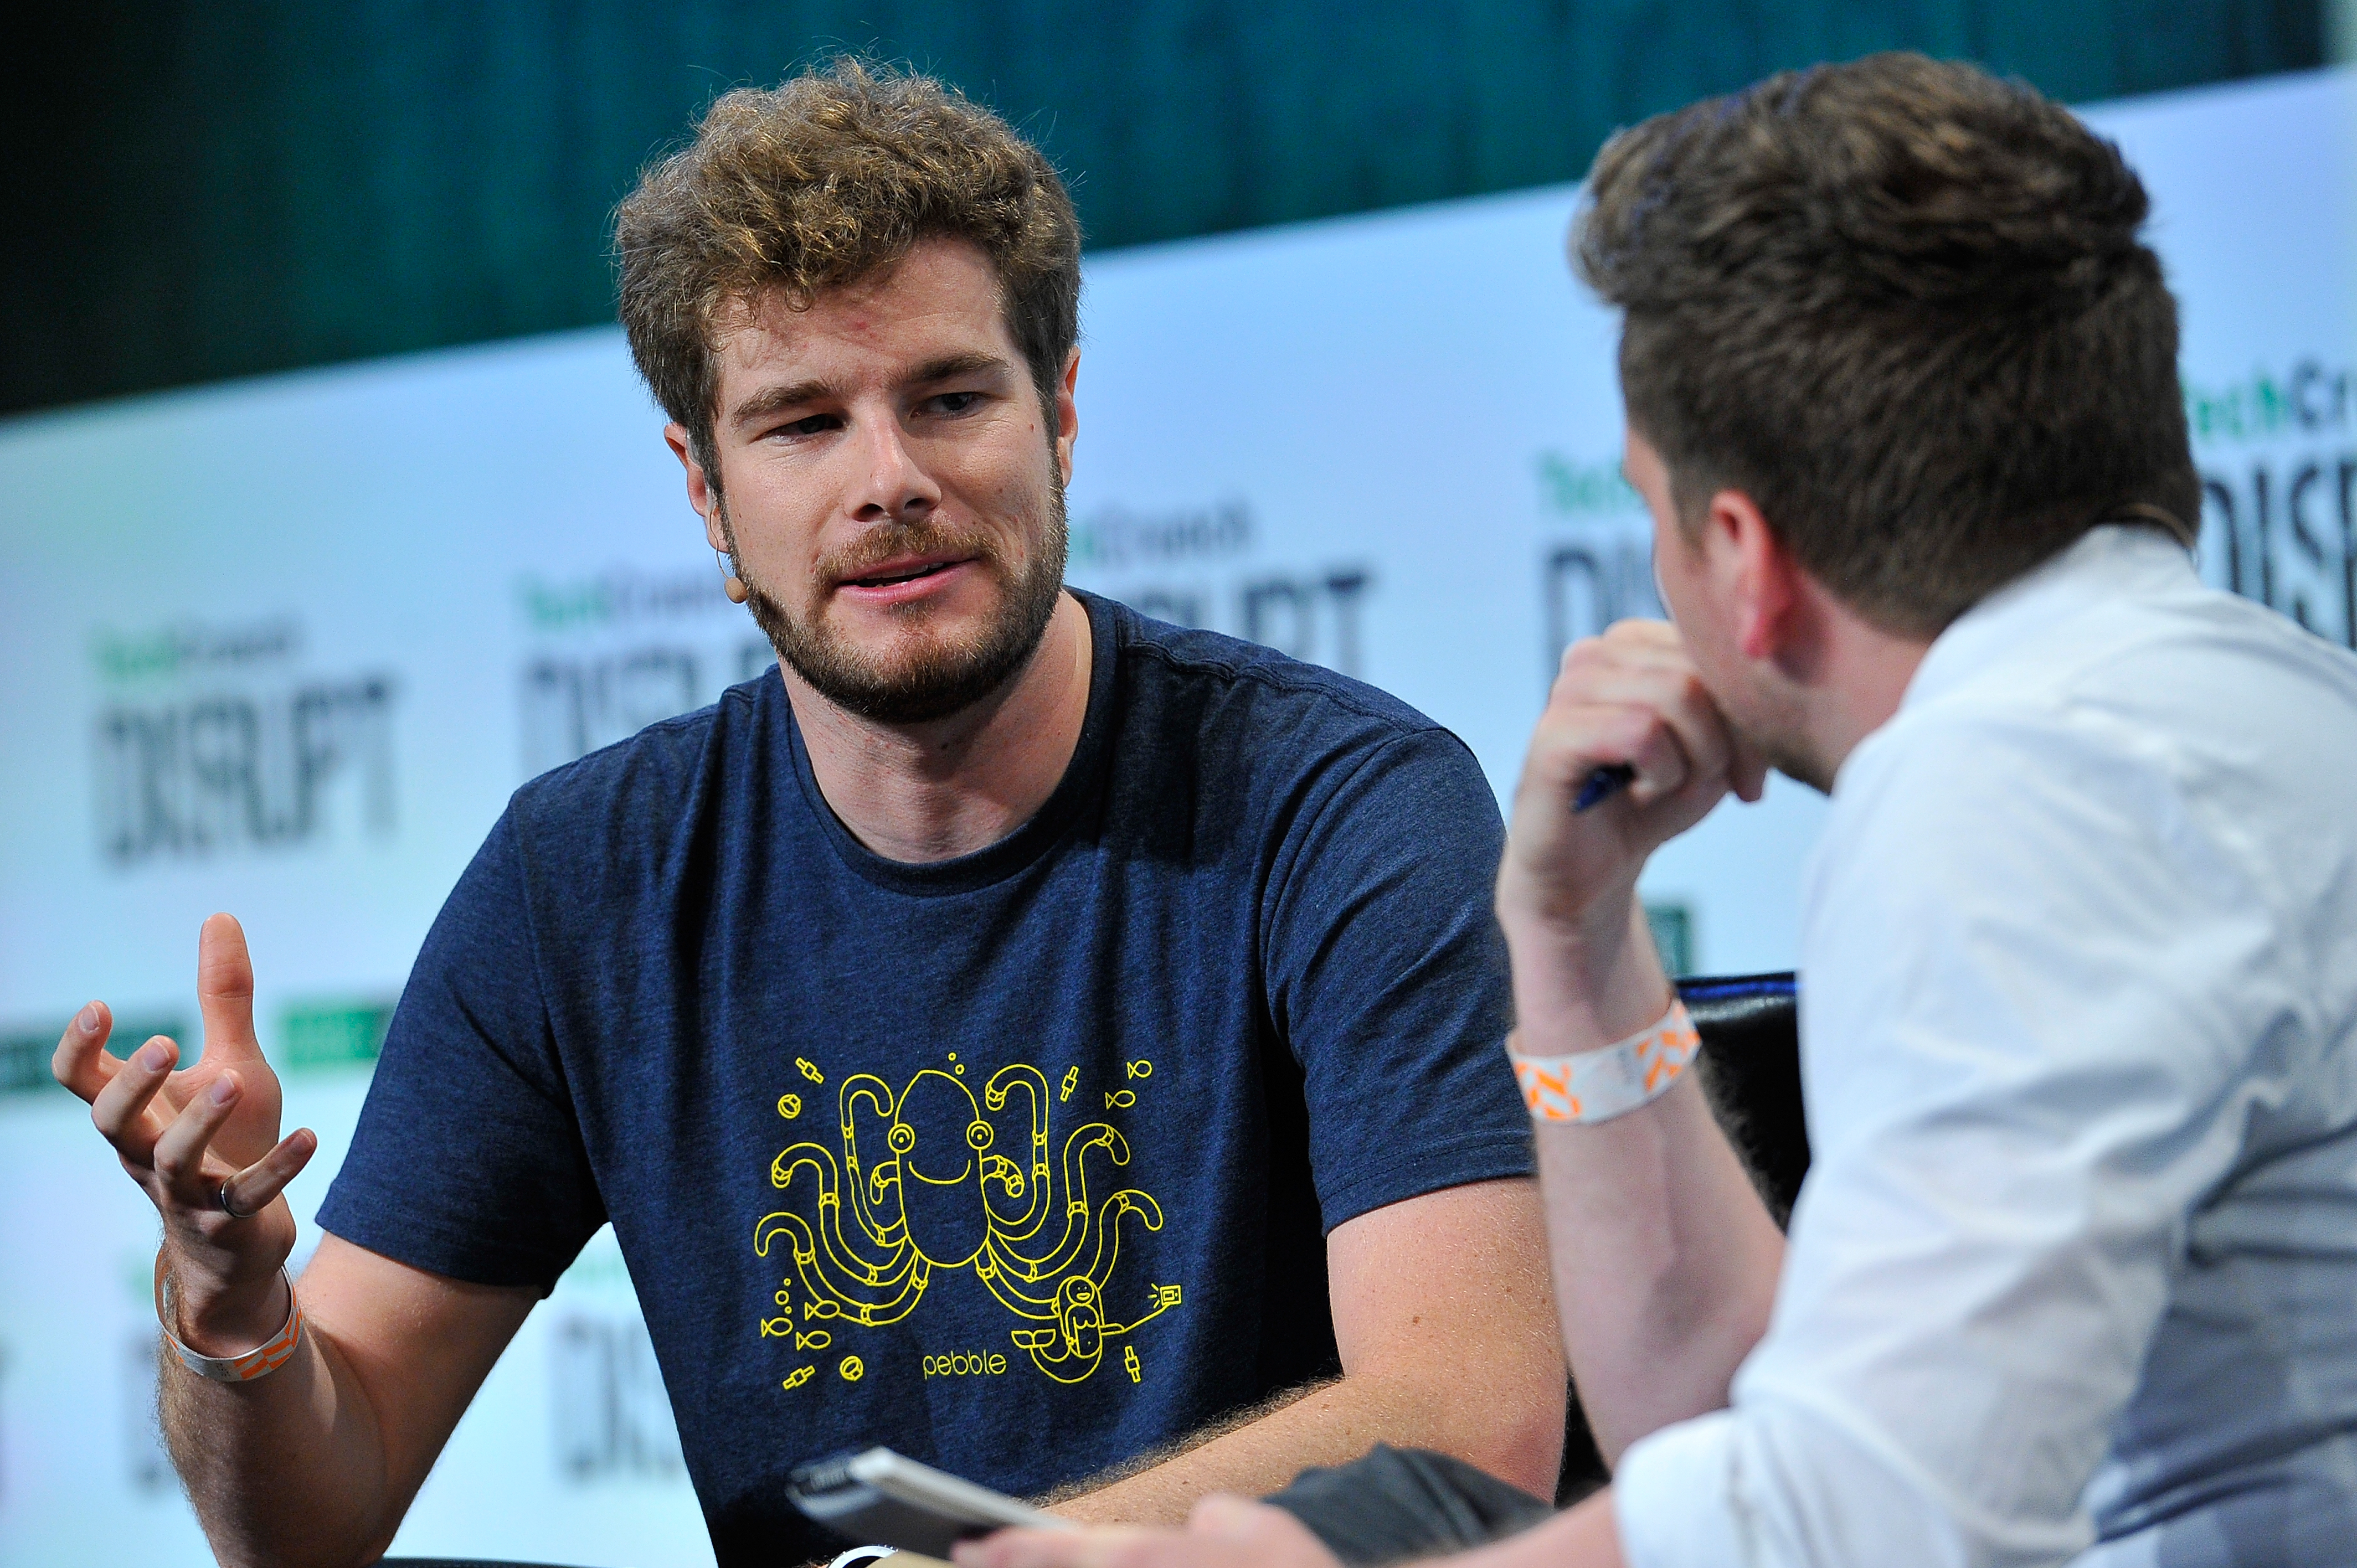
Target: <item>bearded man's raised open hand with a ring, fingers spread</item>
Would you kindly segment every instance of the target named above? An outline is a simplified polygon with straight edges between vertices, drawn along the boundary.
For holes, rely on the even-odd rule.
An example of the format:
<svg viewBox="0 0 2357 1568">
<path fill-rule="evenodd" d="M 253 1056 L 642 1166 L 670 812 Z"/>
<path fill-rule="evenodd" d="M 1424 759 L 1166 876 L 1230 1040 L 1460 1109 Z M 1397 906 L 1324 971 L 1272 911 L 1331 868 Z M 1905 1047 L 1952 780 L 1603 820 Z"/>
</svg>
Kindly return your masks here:
<svg viewBox="0 0 2357 1568">
<path fill-rule="evenodd" d="M 198 938 L 196 995 L 205 1054 L 172 1070 L 179 1047 L 156 1035 L 127 1061 L 106 1052 L 113 1016 L 85 1007 L 49 1070 L 90 1101 L 90 1120 L 163 1214 L 179 1280 L 179 1335 L 200 1353 L 240 1353 L 285 1318 L 278 1266 L 295 1250 L 280 1193 L 318 1151 L 309 1127 L 278 1137 L 278 1075 L 255 1040 L 255 969 L 229 915 Z"/>
</svg>

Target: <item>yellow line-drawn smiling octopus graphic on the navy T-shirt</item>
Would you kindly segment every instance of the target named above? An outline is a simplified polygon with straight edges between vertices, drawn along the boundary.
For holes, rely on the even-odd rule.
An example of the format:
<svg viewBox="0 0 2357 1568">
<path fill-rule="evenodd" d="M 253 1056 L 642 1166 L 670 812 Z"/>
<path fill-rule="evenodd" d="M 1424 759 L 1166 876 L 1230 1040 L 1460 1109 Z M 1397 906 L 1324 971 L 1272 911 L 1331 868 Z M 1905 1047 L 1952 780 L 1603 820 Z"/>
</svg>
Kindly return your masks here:
<svg viewBox="0 0 2357 1568">
<path fill-rule="evenodd" d="M 995 1153 L 999 1134 L 983 1115 L 983 1106 L 1006 1111 L 1011 1092 L 1021 1092 L 1030 1106 L 1028 1170 Z M 891 1158 L 867 1170 L 860 1165 L 863 1106 L 870 1137 L 882 1125 L 884 1146 L 891 1148 Z M 799 1108 L 797 1103 L 794 1111 Z M 1058 1205 L 1049 1170 L 1049 1085 L 1037 1068 L 999 1068 L 983 1085 L 981 1103 L 957 1075 L 940 1068 L 924 1068 L 898 1096 L 882 1078 L 856 1073 L 837 1089 L 837 1120 L 844 1144 L 839 1165 L 823 1144 L 794 1144 L 768 1165 L 771 1186 L 790 1198 L 808 1200 L 816 1193 L 816 1203 L 801 1205 L 801 1212 L 764 1214 L 752 1231 L 757 1257 L 768 1257 L 768 1245 L 780 1233 L 792 1236 L 794 1273 L 808 1292 L 804 1320 L 839 1318 L 870 1327 L 898 1323 L 917 1309 L 936 1269 L 971 1264 L 1006 1311 L 1054 1325 L 1016 1327 L 1009 1337 L 1030 1351 L 1042 1372 L 1075 1384 L 1096 1372 L 1108 1342 L 1178 1306 L 1178 1285 L 1148 1285 L 1138 1318 L 1117 1323 L 1108 1316 L 1122 1219 L 1134 1214 L 1148 1231 L 1160 1231 L 1162 1205 L 1148 1193 L 1122 1188 L 1091 1212 L 1089 1155 L 1101 1151 L 1115 1165 L 1129 1165 L 1129 1141 L 1105 1122 L 1089 1122 L 1063 1141 L 1063 1233 L 1042 1250 L 1042 1231 Z M 801 1172 L 808 1172 L 806 1181 L 797 1181 Z M 792 1309 L 787 1318 L 761 1327 L 771 1335 L 794 1332 Z M 825 1344 L 823 1337 L 797 1335 L 797 1344 L 804 1339 Z M 1134 1363 L 1131 1351 L 1127 1365 Z"/>
</svg>

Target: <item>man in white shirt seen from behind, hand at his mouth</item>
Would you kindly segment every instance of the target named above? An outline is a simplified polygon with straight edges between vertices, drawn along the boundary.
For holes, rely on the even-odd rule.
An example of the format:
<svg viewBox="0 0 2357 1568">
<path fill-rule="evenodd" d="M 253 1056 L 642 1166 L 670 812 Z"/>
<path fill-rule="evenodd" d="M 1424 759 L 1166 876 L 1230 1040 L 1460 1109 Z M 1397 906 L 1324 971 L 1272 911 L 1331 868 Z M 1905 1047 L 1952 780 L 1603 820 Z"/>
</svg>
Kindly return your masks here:
<svg viewBox="0 0 2357 1568">
<path fill-rule="evenodd" d="M 1589 191 L 1676 630 L 1565 655 L 1499 917 L 1615 1481 L 1466 1568 L 2357 1561 L 2357 660 L 2194 575 L 2143 186 L 1879 57 Z M 1765 766 L 1834 797 L 1789 1238 L 1633 898 Z M 1237 1500 L 959 1559 L 1332 1563 Z"/>
</svg>

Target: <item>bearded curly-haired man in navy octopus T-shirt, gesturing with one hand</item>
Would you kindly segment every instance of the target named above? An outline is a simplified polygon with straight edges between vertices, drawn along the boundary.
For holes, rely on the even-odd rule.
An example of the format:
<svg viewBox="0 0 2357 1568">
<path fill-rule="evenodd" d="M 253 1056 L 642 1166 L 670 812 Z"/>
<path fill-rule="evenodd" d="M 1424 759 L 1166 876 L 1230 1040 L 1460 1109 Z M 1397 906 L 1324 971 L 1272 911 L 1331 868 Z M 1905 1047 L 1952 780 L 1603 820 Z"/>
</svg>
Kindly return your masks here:
<svg viewBox="0 0 2357 1568">
<path fill-rule="evenodd" d="M 1369 1443 L 1553 1488 L 1563 1356 L 1466 747 L 1063 587 L 1080 229 L 917 75 L 731 92 L 622 321 L 773 674 L 516 792 L 429 934 L 304 1278 L 236 922 L 205 1059 L 59 1078 L 165 1219 L 224 1563 L 387 1547 L 613 1224 L 721 1563 L 889 1443 L 1178 1518 Z"/>
</svg>

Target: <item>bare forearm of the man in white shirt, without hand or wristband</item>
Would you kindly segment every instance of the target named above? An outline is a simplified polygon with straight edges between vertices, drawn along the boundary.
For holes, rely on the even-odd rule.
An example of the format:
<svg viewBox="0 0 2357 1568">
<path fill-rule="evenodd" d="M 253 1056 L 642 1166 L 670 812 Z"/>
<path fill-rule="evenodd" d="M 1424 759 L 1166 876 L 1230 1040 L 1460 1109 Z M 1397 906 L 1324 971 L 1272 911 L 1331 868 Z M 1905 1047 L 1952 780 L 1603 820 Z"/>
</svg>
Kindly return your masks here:
<svg viewBox="0 0 2357 1568">
<path fill-rule="evenodd" d="M 1633 908 L 1596 950 L 1516 943 L 1518 1049 L 1589 1052 L 1662 1016 L 1671 988 Z M 1784 1238 L 1692 1073 L 1605 1122 L 1537 1129 L 1549 1266 L 1589 1429 L 1607 1462 L 1716 1410 L 1768 1330 Z"/>
</svg>

